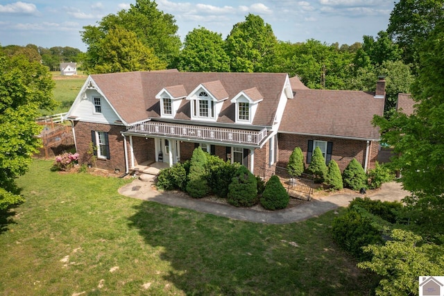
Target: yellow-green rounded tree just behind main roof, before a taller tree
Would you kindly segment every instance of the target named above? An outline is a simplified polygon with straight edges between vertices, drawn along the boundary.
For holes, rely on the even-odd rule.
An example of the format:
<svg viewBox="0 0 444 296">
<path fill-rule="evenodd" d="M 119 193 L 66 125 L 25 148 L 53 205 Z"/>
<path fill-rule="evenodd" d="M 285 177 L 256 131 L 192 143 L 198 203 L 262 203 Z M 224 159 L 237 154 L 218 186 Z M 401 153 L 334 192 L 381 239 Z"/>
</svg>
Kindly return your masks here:
<svg viewBox="0 0 444 296">
<path fill-rule="evenodd" d="M 112 28 L 101 40 L 99 58 L 92 73 L 114 73 L 164 69 L 153 50 L 142 44 L 135 33 Z"/>
</svg>

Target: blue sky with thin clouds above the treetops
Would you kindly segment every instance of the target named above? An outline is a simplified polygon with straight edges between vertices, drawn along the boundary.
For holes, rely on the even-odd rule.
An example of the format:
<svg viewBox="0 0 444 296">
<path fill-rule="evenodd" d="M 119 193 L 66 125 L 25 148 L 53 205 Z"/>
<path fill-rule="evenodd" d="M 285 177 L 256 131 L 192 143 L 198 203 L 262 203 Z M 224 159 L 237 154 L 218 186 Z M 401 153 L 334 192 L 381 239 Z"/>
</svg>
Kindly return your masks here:
<svg viewBox="0 0 444 296">
<path fill-rule="evenodd" d="M 362 42 L 364 35 L 386 30 L 393 0 L 157 0 L 157 8 L 170 13 L 181 39 L 203 26 L 225 37 L 248 13 L 271 24 L 278 40 L 327 44 Z M 395 2 L 398 2 L 396 0 Z M 83 26 L 127 9 L 135 0 L 60 1 L 0 0 L 0 44 L 42 47 L 71 46 L 86 51 L 80 38 Z"/>
</svg>

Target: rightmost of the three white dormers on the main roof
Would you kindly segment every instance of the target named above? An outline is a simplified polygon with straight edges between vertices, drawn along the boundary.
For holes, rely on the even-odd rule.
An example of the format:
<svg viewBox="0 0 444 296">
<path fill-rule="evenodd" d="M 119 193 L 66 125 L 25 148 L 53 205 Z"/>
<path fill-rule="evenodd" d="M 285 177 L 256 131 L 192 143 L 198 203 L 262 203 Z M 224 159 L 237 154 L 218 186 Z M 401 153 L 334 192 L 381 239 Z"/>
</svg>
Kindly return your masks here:
<svg viewBox="0 0 444 296">
<path fill-rule="evenodd" d="M 256 87 L 245 89 L 231 99 L 236 104 L 236 123 L 252 124 L 257 105 L 264 99 Z"/>
</svg>

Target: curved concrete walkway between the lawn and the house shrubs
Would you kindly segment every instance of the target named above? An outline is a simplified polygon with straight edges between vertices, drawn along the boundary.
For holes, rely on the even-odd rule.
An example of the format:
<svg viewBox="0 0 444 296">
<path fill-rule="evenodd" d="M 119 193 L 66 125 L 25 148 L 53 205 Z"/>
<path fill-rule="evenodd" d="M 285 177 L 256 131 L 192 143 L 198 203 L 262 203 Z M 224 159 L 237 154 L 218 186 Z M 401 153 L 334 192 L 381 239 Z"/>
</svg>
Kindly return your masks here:
<svg viewBox="0 0 444 296">
<path fill-rule="evenodd" d="M 167 204 L 171 207 L 182 207 L 185 209 L 193 209 L 202 213 L 214 214 L 216 216 L 223 216 L 236 220 L 268 224 L 287 224 L 307 220 L 311 217 L 319 216 L 338 207 L 347 207 L 348 203 L 353 198 L 362 196 L 359 193 L 333 194 L 321 198 L 313 198 L 309 202 L 298 204 L 289 209 L 282 209 L 279 211 L 257 211 L 255 209 L 234 207 L 230 204 L 221 204 L 208 200 L 198 200 L 195 198 L 190 198 L 185 193 L 157 191 L 155 189 L 153 180 L 144 182 L 142 180 L 135 179 L 130 184 L 126 184 L 125 186 L 121 187 L 119 189 L 119 193 L 131 198 Z M 373 200 L 400 201 L 407 195 L 409 195 L 409 192 L 404 191 L 401 184 L 390 182 L 383 184 L 382 188 L 375 193 L 366 196 Z"/>
</svg>

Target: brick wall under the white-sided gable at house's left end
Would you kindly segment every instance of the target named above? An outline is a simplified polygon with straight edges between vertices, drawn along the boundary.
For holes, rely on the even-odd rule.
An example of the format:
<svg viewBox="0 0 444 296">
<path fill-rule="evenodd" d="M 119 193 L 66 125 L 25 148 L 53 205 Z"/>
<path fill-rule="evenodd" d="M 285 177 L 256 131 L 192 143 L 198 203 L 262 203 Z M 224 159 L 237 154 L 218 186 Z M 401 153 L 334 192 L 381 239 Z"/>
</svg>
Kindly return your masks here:
<svg viewBox="0 0 444 296">
<path fill-rule="evenodd" d="M 88 164 L 92 162 L 87 153 L 89 145 L 92 142 L 91 131 L 108 132 L 110 159 L 96 159 L 96 166 L 97 168 L 103 168 L 110 171 L 114 171 L 115 168 L 119 168 L 121 172 L 125 171 L 123 137 L 120 134 L 125 128 L 119 125 L 76 122 L 74 130 L 76 132 L 77 152 L 80 154 L 80 164 Z"/>
</svg>

